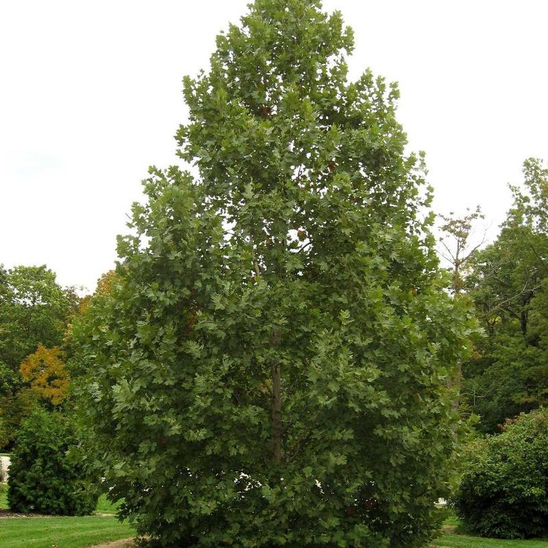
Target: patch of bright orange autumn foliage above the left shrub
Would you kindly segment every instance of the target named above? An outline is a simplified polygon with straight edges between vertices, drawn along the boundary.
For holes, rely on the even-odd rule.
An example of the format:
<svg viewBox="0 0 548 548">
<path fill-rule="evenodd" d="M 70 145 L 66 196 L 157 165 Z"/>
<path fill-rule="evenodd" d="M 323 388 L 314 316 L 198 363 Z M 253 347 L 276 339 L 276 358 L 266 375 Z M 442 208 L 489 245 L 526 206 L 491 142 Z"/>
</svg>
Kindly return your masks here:
<svg viewBox="0 0 548 548">
<path fill-rule="evenodd" d="M 36 352 L 21 362 L 19 370 L 34 392 L 54 406 L 66 397 L 69 373 L 62 361 L 59 347 L 46 348 L 38 345 Z"/>
</svg>

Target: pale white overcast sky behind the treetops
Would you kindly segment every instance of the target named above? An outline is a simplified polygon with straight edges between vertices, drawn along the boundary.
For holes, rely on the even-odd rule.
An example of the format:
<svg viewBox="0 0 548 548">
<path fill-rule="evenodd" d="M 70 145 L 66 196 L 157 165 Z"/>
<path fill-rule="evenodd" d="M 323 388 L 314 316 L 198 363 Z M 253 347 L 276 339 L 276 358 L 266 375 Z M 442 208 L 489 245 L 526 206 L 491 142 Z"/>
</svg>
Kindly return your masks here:
<svg viewBox="0 0 548 548">
<path fill-rule="evenodd" d="M 182 77 L 246 0 L 0 0 L 0 263 L 92 289 L 149 164 L 176 162 Z M 548 159 L 548 2 L 325 0 L 350 60 L 397 80 L 438 212 L 481 204 L 496 234 L 521 163 Z"/>
</svg>

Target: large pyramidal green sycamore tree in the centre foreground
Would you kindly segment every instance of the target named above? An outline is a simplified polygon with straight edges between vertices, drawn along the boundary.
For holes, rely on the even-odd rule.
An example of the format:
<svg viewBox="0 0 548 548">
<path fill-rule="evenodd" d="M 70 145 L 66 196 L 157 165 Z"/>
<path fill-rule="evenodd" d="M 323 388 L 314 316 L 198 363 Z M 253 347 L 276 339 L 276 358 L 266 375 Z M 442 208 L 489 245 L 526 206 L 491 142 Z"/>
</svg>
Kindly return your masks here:
<svg viewBox="0 0 548 548">
<path fill-rule="evenodd" d="M 444 290 L 398 91 L 351 29 L 256 0 L 184 80 L 110 291 L 73 326 L 91 468 L 165 547 L 419 547 L 455 440 Z M 93 456 L 95 455 L 95 456 Z"/>
</svg>

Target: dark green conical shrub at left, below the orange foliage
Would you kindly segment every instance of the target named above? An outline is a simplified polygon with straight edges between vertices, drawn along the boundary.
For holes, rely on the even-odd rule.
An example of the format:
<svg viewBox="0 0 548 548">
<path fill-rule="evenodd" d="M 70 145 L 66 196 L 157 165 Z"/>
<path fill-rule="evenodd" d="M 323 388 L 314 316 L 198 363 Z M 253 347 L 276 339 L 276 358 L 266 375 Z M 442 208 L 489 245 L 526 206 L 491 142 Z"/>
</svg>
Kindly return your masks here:
<svg viewBox="0 0 548 548">
<path fill-rule="evenodd" d="M 69 419 L 35 411 L 23 423 L 12 452 L 8 504 L 14 512 L 82 516 L 97 497 L 85 488 L 81 467 L 67 456 L 76 442 Z"/>
</svg>

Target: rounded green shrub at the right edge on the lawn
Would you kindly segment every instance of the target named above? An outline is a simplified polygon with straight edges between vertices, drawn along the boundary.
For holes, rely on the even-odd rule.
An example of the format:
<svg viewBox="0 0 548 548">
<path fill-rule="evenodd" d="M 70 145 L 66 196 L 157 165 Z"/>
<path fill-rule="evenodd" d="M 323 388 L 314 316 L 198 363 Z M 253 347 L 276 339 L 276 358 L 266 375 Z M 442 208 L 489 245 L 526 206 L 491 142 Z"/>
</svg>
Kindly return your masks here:
<svg viewBox="0 0 548 548">
<path fill-rule="evenodd" d="M 548 532 L 548 409 L 507 421 L 503 433 L 472 443 L 453 500 L 467 528 L 483 536 Z"/>
</svg>

